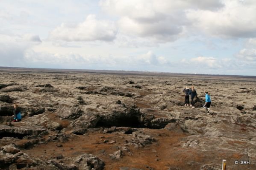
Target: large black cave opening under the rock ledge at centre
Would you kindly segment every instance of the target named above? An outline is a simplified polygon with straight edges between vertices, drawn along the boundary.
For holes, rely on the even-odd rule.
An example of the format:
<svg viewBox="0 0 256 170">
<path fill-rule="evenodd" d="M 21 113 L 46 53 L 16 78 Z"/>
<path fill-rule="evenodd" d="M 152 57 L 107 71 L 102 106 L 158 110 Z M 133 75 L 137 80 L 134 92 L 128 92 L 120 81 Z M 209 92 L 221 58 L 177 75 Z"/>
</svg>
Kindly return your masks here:
<svg viewBox="0 0 256 170">
<path fill-rule="evenodd" d="M 137 116 L 129 116 L 129 117 L 117 117 L 112 120 L 101 119 L 97 122 L 96 127 L 134 127 L 140 128 L 145 127 L 143 123 L 138 121 Z"/>
</svg>

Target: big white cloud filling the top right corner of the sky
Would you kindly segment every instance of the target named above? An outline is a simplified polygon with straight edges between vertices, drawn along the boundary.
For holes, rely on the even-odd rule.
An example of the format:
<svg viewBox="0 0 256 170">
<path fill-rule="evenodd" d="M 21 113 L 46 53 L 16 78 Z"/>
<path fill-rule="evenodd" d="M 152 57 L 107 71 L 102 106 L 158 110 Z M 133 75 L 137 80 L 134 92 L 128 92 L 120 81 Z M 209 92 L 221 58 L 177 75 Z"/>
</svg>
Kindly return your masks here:
<svg viewBox="0 0 256 170">
<path fill-rule="evenodd" d="M 225 0 L 225 7 L 217 11 L 192 10 L 188 20 L 199 31 L 216 37 L 255 37 L 256 1 Z"/>
</svg>

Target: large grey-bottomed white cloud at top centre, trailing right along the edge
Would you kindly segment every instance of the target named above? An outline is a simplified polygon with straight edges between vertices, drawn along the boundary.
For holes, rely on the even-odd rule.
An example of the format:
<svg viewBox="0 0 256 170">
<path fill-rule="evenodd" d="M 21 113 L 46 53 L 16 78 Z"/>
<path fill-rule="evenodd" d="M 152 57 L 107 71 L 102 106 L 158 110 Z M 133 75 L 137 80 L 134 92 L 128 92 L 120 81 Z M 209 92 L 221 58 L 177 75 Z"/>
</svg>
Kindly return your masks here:
<svg viewBox="0 0 256 170">
<path fill-rule="evenodd" d="M 224 6 L 218 0 L 101 0 L 99 4 L 118 17 L 121 33 L 150 37 L 156 42 L 174 41 L 186 33 L 191 25 L 187 9 L 215 11 Z"/>
</svg>

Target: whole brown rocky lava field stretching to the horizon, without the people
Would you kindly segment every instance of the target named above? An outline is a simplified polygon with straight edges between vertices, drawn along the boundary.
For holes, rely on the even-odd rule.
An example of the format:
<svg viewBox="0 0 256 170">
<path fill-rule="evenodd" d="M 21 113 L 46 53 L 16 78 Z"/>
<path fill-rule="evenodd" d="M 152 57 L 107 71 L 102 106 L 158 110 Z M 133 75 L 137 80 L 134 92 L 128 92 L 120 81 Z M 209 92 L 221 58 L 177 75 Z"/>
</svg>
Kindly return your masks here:
<svg viewBox="0 0 256 170">
<path fill-rule="evenodd" d="M 194 109 L 182 92 L 191 85 Z M 255 87 L 252 77 L 0 71 L 0 169 L 220 170 L 226 159 L 227 170 L 255 170 Z M 14 103 L 23 119 L 8 126 Z"/>
</svg>

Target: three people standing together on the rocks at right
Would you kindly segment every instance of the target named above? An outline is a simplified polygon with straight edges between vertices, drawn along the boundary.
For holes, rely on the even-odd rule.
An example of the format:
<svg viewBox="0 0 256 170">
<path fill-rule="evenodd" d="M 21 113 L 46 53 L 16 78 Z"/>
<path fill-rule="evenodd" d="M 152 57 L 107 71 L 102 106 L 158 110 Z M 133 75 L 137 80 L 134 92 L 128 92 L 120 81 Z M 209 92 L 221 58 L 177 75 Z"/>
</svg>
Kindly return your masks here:
<svg viewBox="0 0 256 170">
<path fill-rule="evenodd" d="M 183 92 L 185 92 L 185 106 L 189 105 L 189 96 L 191 96 L 191 104 L 190 106 L 192 108 L 194 107 L 194 97 L 197 97 L 197 91 L 194 88 L 194 86 L 191 86 L 191 88 L 188 88 L 187 86 L 183 89 Z M 205 92 L 205 104 L 203 105 L 203 108 L 206 108 L 206 111 L 209 113 L 210 106 L 211 106 L 211 96 L 210 93 L 208 91 Z"/>
</svg>

